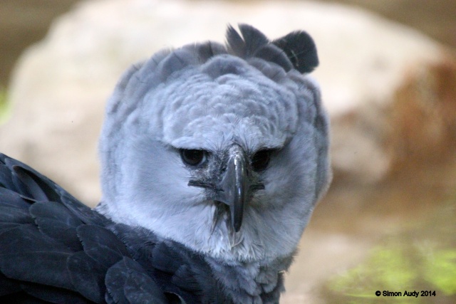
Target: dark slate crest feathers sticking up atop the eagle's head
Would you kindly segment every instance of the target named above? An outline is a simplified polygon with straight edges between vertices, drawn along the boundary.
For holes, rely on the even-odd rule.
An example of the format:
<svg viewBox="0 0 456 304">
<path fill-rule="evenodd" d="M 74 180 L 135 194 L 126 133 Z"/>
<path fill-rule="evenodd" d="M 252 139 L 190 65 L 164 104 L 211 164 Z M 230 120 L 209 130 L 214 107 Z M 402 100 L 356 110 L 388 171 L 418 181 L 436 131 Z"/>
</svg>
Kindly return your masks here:
<svg viewBox="0 0 456 304">
<path fill-rule="evenodd" d="M 227 28 L 228 51 L 241 58 L 261 58 L 280 65 L 289 71 L 309 73 L 318 65 L 314 40 L 304 31 L 295 31 L 269 41 L 261 31 L 247 24 L 239 25 L 238 33 L 232 26 Z"/>
</svg>

